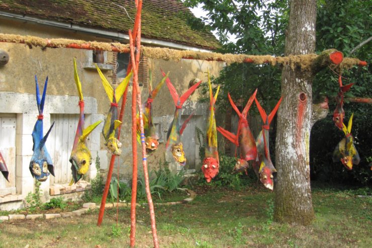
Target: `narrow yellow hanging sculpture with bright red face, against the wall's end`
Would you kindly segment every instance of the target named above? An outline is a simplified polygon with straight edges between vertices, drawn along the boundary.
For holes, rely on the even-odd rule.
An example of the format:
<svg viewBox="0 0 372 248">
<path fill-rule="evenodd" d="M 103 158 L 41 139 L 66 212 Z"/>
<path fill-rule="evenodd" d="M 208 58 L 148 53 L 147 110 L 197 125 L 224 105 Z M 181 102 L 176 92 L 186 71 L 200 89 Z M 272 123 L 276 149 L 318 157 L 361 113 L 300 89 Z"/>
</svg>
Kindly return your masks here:
<svg viewBox="0 0 372 248">
<path fill-rule="evenodd" d="M 205 158 L 203 160 L 202 171 L 207 183 L 217 176 L 220 168 L 220 160 L 218 157 L 217 146 L 217 129 L 215 119 L 215 103 L 217 100 L 220 86 L 217 87 L 215 96 L 213 97 L 211 78 L 208 72 L 208 85 L 209 85 L 209 118 L 207 123 L 207 135 L 205 139 Z"/>
</svg>

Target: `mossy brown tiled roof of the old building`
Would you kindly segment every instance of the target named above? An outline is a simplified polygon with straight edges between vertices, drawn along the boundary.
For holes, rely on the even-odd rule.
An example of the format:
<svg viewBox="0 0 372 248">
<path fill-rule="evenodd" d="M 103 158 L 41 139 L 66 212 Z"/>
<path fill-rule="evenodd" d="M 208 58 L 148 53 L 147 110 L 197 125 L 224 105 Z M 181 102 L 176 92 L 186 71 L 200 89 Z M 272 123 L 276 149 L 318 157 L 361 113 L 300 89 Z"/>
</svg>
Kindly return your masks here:
<svg viewBox="0 0 372 248">
<path fill-rule="evenodd" d="M 133 27 L 136 13 L 134 2 L 0 0 L 0 11 L 127 33 Z M 142 4 L 142 36 L 207 49 L 220 47 L 212 33 L 191 29 L 185 17 L 190 14 L 190 10 L 177 0 L 145 0 Z"/>
</svg>

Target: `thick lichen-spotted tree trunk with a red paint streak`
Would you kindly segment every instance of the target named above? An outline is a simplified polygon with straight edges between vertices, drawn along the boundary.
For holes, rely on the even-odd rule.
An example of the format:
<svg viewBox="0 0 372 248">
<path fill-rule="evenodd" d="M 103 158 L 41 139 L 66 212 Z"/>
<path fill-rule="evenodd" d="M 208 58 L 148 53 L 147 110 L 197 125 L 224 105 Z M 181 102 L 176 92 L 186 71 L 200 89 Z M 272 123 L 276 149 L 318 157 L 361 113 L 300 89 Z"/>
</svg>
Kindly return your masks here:
<svg viewBox="0 0 372 248">
<path fill-rule="evenodd" d="M 316 0 L 292 0 L 286 56 L 314 53 Z M 283 101 L 277 115 L 274 220 L 307 225 L 314 219 L 310 189 L 309 141 L 312 127 L 311 71 L 285 65 Z"/>
</svg>

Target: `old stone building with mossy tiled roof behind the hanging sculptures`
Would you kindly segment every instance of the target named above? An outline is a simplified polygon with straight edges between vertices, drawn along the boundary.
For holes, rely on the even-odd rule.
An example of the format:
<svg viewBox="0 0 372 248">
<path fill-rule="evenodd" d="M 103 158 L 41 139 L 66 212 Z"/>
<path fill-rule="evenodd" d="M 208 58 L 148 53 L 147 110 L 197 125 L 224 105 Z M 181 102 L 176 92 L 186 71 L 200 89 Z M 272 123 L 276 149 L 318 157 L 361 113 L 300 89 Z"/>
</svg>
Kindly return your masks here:
<svg viewBox="0 0 372 248">
<path fill-rule="evenodd" d="M 191 12 L 176 0 L 148 0 L 142 8 L 142 45 L 173 49 L 213 51 L 219 47 L 209 32 L 195 31 L 187 24 Z M 0 0 L 0 33 L 47 38 L 66 38 L 85 41 L 128 43 L 127 31 L 132 28 L 135 16 L 134 1 L 22 1 Z M 47 147 L 54 161 L 55 177 L 41 184 L 43 200 L 53 196 L 78 197 L 89 187 L 80 183 L 72 187 L 68 161 L 78 122 L 77 90 L 73 79 L 73 57 L 78 64 L 85 101 L 85 126 L 104 120 L 110 106 L 101 79 L 94 66 L 96 52 L 71 48 L 42 48 L 25 44 L 0 42 L 0 50 L 9 55 L 9 62 L 0 65 L 0 151 L 10 172 L 10 182 L 0 177 L 0 209 L 19 208 L 25 196 L 34 190 L 34 179 L 29 171 L 32 156 L 32 130 L 37 119 L 34 76 L 41 87 L 49 76 L 47 98 L 44 108 L 44 132 L 55 121 L 47 140 Z M 128 54 L 104 52 L 99 64 L 113 86 L 120 82 L 128 64 Z M 160 68 L 170 71 L 169 78 L 179 94 L 188 89 L 194 78 L 206 79 L 207 69 L 218 75 L 225 64 L 202 60 L 182 59 L 179 62 L 141 58 L 139 82 L 143 100 L 148 95 L 148 70 L 152 81 L 160 79 Z M 129 180 L 132 173 L 131 148 L 131 86 L 125 109 L 121 141 L 123 152 L 119 158 L 120 175 Z M 185 104 L 184 116 L 195 111 L 195 117 L 183 135 L 184 149 L 189 159 L 186 169 L 200 169 L 199 143 L 196 127 L 205 128 L 207 106 L 198 104 L 201 93 L 196 92 Z M 160 136 L 158 150 L 149 158 L 149 169 L 156 169 L 161 161 L 169 159 L 164 143 L 166 131 L 173 117 L 174 105 L 168 89 L 164 86 L 153 103 L 154 121 Z M 100 157 L 101 169 L 108 167 L 109 155 L 103 145 L 100 124 L 87 141 L 93 161 Z M 140 157 L 140 153 L 139 153 Z M 171 160 L 169 160 L 171 161 Z M 139 160 L 139 168 L 140 166 Z M 171 169 L 176 169 L 171 163 Z M 141 170 L 141 169 L 139 169 Z M 116 171 L 116 169 L 114 170 Z M 91 164 L 85 180 L 97 174 Z"/>
</svg>

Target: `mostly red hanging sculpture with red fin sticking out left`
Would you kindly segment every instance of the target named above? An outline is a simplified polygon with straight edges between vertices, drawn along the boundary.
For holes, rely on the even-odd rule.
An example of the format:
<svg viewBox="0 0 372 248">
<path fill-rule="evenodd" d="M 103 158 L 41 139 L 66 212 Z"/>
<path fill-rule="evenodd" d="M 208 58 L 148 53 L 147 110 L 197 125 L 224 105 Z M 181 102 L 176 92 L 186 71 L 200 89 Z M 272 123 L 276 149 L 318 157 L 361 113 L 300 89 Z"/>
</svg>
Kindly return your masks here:
<svg viewBox="0 0 372 248">
<path fill-rule="evenodd" d="M 235 164 L 233 172 L 247 172 L 247 169 L 249 167 L 249 164 L 247 161 L 256 159 L 257 156 L 257 149 L 256 149 L 256 143 L 254 141 L 254 137 L 250 131 L 248 121 L 247 121 L 247 115 L 250 106 L 253 103 L 253 100 L 255 99 L 257 94 L 257 90 L 254 91 L 253 95 L 249 98 L 247 104 L 245 105 L 242 113 L 238 110 L 235 103 L 231 99 L 230 94 L 227 94 L 227 97 L 229 98 L 230 104 L 235 110 L 235 112 L 239 116 L 239 123 L 238 123 L 238 130 L 237 134 L 230 133 L 229 131 L 223 129 L 222 127 L 218 127 L 217 130 L 224 135 L 227 139 L 229 139 L 231 142 L 233 142 L 236 146 L 239 146 L 240 150 L 240 159 Z"/>
</svg>

